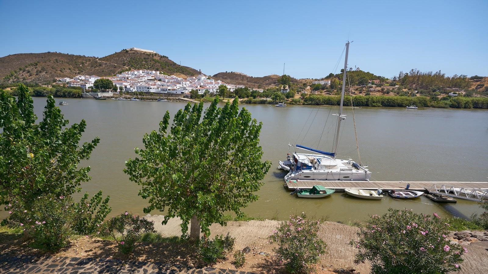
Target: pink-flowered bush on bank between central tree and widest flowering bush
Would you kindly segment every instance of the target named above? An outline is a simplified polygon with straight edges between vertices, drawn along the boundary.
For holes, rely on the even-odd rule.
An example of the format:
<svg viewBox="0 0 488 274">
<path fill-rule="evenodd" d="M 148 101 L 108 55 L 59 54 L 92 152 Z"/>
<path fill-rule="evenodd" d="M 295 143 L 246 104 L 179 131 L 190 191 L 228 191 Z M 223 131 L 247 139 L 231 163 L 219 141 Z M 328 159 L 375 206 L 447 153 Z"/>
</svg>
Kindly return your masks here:
<svg viewBox="0 0 488 274">
<path fill-rule="evenodd" d="M 279 247 L 274 252 L 288 272 L 315 271 L 312 264 L 319 261 L 326 248 L 325 242 L 317 236 L 319 224 L 319 221 L 307 220 L 304 213 L 292 215 L 269 236 L 270 242 L 278 243 Z"/>
</svg>

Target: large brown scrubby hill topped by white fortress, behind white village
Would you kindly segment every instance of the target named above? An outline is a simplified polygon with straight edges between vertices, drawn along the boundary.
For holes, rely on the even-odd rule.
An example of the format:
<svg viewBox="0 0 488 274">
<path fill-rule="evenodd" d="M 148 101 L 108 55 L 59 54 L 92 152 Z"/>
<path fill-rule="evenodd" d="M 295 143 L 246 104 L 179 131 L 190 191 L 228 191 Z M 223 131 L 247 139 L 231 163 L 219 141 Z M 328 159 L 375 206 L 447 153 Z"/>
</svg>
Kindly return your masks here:
<svg viewBox="0 0 488 274">
<path fill-rule="evenodd" d="M 102 58 L 46 52 L 13 54 L 0 58 L 0 81 L 47 83 L 53 82 L 55 78 L 73 78 L 77 75 L 113 76 L 131 69 L 159 70 L 184 76 L 200 74 L 166 56 L 137 50 L 122 50 Z"/>
</svg>

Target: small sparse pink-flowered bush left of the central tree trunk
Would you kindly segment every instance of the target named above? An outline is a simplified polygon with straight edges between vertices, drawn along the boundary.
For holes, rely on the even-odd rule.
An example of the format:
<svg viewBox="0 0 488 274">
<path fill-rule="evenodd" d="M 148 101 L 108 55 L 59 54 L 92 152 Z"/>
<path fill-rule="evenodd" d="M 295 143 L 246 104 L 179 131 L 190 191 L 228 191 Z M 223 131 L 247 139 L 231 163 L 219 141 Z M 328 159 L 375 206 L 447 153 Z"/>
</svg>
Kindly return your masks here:
<svg viewBox="0 0 488 274">
<path fill-rule="evenodd" d="M 142 235 L 154 232 L 154 222 L 128 212 L 111 218 L 101 226 L 101 234 L 117 241 L 117 247 L 123 254 L 132 253 L 134 243 Z"/>
</svg>

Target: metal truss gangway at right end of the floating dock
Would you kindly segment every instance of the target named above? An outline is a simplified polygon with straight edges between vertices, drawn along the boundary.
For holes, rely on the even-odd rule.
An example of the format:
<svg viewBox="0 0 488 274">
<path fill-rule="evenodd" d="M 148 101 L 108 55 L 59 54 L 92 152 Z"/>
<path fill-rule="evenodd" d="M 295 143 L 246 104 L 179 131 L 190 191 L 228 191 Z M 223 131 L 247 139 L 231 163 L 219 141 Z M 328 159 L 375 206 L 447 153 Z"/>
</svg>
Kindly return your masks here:
<svg viewBox="0 0 488 274">
<path fill-rule="evenodd" d="M 426 188 L 426 190 L 430 194 L 444 195 L 476 202 L 480 202 L 483 199 L 488 199 L 488 190 L 480 188 L 433 184 L 430 189 Z"/>
</svg>

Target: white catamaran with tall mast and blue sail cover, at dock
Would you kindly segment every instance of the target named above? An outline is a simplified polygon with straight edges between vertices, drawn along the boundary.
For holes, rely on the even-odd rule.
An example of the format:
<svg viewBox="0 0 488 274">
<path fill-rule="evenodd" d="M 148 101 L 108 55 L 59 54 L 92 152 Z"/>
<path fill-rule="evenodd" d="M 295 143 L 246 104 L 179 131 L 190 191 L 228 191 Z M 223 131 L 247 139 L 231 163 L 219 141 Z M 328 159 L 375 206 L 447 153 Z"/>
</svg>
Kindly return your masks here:
<svg viewBox="0 0 488 274">
<path fill-rule="evenodd" d="M 352 159 L 336 158 L 337 147 L 339 143 L 339 134 L 341 133 L 341 121 L 346 119 L 342 114 L 344 104 L 344 91 L 346 87 L 347 72 L 347 55 L 349 52 L 349 42 L 346 43 L 346 59 L 344 62 L 344 74 L 342 78 L 341 105 L 337 115 L 337 129 L 333 152 L 325 152 L 318 149 L 309 148 L 303 145 L 295 144 L 295 149 L 299 148 L 312 153 L 297 153 L 290 155 L 288 153 L 285 161 L 279 161 L 279 167 L 289 171 L 285 176 L 287 180 L 352 180 L 352 181 L 369 181 L 371 172 Z"/>
</svg>

